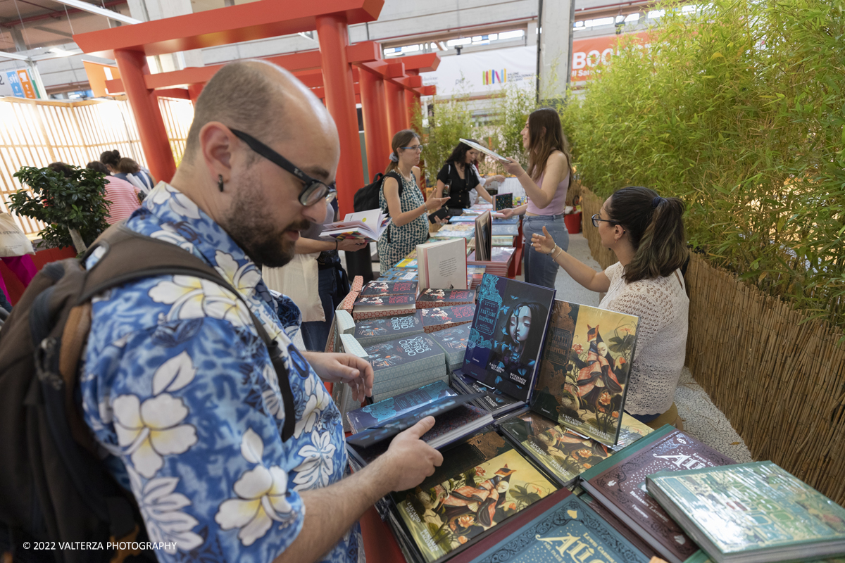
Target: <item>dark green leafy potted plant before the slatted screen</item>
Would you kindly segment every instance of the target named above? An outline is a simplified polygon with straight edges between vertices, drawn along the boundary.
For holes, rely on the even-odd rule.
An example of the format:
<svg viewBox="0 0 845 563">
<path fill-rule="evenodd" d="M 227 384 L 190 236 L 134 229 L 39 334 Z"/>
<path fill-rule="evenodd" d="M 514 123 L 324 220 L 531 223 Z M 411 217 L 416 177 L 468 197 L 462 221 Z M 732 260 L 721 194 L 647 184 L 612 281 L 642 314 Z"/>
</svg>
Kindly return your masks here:
<svg viewBox="0 0 845 563">
<path fill-rule="evenodd" d="M 69 166 L 70 175 L 50 168 L 23 166 L 14 173 L 29 189 L 9 195 L 14 213 L 46 224 L 39 232 L 46 248 L 74 246 L 85 252 L 102 231 L 106 217 L 106 176 L 101 172 Z"/>
</svg>

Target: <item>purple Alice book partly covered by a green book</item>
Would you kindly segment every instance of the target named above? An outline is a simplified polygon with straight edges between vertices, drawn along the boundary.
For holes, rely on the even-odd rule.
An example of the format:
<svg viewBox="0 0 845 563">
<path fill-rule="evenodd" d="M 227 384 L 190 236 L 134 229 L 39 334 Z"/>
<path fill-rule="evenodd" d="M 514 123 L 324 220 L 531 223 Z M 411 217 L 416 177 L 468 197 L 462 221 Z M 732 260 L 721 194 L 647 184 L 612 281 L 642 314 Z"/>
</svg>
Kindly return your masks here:
<svg viewBox="0 0 845 563">
<path fill-rule="evenodd" d="M 733 464 L 733 459 L 665 425 L 581 474 L 581 486 L 651 549 L 683 563 L 698 547 L 646 492 L 646 476 L 659 471 Z"/>
</svg>

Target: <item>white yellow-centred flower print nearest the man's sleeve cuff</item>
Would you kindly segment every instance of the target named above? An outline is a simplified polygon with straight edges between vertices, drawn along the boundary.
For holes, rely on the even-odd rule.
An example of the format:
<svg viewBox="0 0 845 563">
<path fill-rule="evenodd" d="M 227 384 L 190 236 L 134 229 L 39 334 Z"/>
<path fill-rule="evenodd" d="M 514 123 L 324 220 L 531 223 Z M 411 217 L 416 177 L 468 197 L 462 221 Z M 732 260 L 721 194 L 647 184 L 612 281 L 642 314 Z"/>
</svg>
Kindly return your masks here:
<svg viewBox="0 0 845 563">
<path fill-rule="evenodd" d="M 224 530 L 240 528 L 237 538 L 244 545 L 252 545 L 264 537 L 273 522 L 287 526 L 297 519 L 297 512 L 287 502 L 285 470 L 278 465 L 264 467 L 264 441 L 251 428 L 243 434 L 241 455 L 258 465 L 237 479 L 232 489 L 238 498 L 223 501 L 214 519 Z"/>
</svg>

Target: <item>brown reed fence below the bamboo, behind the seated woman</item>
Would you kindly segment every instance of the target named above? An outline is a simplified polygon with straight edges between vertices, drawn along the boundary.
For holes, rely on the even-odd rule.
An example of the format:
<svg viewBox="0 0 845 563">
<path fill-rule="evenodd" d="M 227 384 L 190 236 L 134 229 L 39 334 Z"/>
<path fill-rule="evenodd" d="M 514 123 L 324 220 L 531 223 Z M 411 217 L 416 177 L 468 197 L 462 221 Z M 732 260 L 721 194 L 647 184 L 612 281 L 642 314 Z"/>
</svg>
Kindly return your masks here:
<svg viewBox="0 0 845 563">
<path fill-rule="evenodd" d="M 592 256 L 616 262 L 590 216 L 603 200 L 582 190 Z M 845 345 L 842 328 L 765 295 L 693 254 L 686 273 L 686 365 L 757 460 L 771 459 L 845 505 Z"/>
</svg>

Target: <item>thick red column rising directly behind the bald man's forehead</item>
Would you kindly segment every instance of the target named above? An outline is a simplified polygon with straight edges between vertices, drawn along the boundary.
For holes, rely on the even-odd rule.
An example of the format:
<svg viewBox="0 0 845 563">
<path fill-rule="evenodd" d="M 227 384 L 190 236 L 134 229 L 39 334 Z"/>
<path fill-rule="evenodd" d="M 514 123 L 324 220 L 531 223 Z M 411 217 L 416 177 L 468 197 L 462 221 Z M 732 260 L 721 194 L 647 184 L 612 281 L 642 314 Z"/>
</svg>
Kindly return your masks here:
<svg viewBox="0 0 845 563">
<path fill-rule="evenodd" d="M 352 198 L 358 188 L 363 186 L 364 177 L 352 67 L 346 58 L 346 47 L 349 46 L 346 14 L 317 16 L 317 35 L 323 66 L 325 106 L 335 119 L 341 141 L 341 162 L 338 164 L 336 181 L 337 201 L 342 217 L 352 213 Z"/>
</svg>

